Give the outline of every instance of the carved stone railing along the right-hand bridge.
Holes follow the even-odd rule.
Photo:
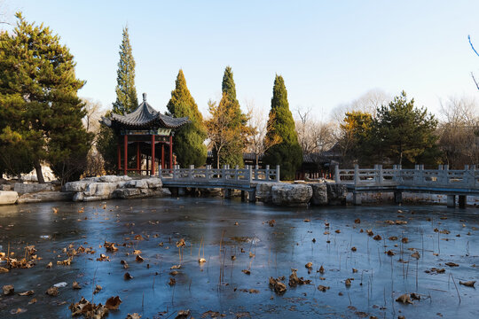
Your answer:
[[[440,165],[438,169],[424,169],[422,165],[416,165],[413,169],[404,169],[399,165],[386,169],[381,165],[375,165],[373,168],[359,168],[356,165],[349,169],[336,166],[334,180],[336,183],[357,186],[400,185],[479,189],[479,170],[476,170],[475,166],[452,170],[447,165]]]

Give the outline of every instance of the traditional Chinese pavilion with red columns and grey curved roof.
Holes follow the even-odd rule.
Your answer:
[[[146,93],[143,93],[143,102],[135,111],[126,115],[111,113],[103,117],[101,122],[113,128],[116,136],[119,136],[118,172],[127,175],[129,171],[137,171],[139,175],[142,172],[154,175],[156,165],[173,167],[174,131],[190,121],[187,117],[173,118],[157,112],[146,102]],[[165,146],[169,152],[166,159]],[[142,158],[146,159],[145,169],[142,167]],[[129,167],[135,162],[134,159],[136,167]]]

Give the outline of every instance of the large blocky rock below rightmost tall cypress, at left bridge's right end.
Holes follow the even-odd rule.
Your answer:
[[[272,202],[281,206],[308,206],[312,187],[306,184],[278,183],[271,188]]]

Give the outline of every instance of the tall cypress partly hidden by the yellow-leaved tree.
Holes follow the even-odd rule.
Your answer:
[[[241,113],[240,102],[236,99],[236,85],[233,80],[232,67],[226,66],[224,69],[223,82],[221,85],[223,97],[220,105],[228,105],[229,111],[233,114],[230,123],[231,128],[240,132],[240,136],[225,146],[223,155],[220,158],[220,163],[228,164],[232,167],[239,165],[242,167],[243,163],[243,148],[245,143],[245,134],[247,133],[247,116]],[[224,101],[227,99],[227,101]],[[215,157],[217,157],[217,150],[213,150]]]

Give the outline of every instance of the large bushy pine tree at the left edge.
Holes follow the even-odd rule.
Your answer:
[[[43,24],[27,23],[20,12],[16,17],[12,35],[0,34],[0,147],[17,149],[22,163],[15,169],[35,167],[39,183],[44,183],[43,162],[65,181],[78,175],[75,167],[82,169],[70,163],[86,159],[90,148],[91,136],[82,126],[84,105],[77,97],[84,82],[75,78],[74,57],[58,35]]]

